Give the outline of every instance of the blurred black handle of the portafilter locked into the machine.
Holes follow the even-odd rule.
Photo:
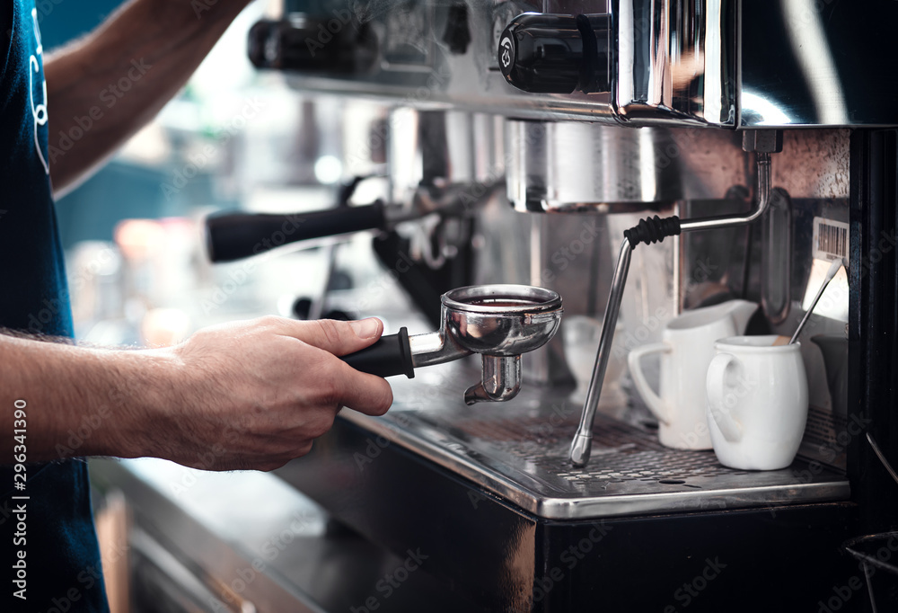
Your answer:
[[[206,219],[211,262],[232,262],[265,253],[282,244],[383,228],[383,202],[293,215],[225,213]]]

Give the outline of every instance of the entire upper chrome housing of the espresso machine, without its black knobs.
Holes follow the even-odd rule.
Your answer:
[[[330,3],[346,10],[346,4]],[[332,6],[331,6],[332,4]],[[339,5],[338,5],[339,4]],[[356,75],[287,75],[304,92],[372,96],[421,109],[631,126],[727,128],[898,125],[898,4],[858,10],[832,0],[470,0],[471,44],[443,40],[445,4],[349,4],[370,22],[381,59]],[[515,15],[612,13],[612,93],[533,94],[507,84],[497,36]]]

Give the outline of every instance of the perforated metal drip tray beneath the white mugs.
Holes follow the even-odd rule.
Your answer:
[[[845,475],[819,463],[797,458],[783,470],[734,470],[713,451],[667,449],[655,429],[601,414],[592,459],[577,468],[568,447],[579,403],[525,386],[507,403],[466,406],[465,386],[453,381],[468,378],[428,372],[392,380],[395,400],[383,417],[340,414],[546,519],[777,507],[850,495]]]

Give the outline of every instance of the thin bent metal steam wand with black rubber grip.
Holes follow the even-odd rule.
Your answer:
[[[745,140],[748,140],[748,138],[745,138]],[[778,140],[779,142],[774,147],[769,147],[770,151],[782,149],[781,136],[779,136]],[[770,152],[757,150],[755,153],[755,164],[757,166],[758,208],[750,214],[735,217],[715,216],[689,219],[687,221],[681,221],[675,215],[664,219],[656,215],[654,218],[642,219],[639,221],[638,226],[624,231],[621,253],[618,255],[617,266],[614,269],[614,277],[612,278],[612,290],[608,296],[608,306],[605,307],[602,336],[599,339],[599,351],[595,358],[593,377],[590,379],[589,388],[586,391],[586,401],[583,405],[583,413],[580,414],[577,434],[574,435],[574,440],[570,445],[569,458],[574,466],[586,466],[592,452],[595,409],[599,405],[605,369],[608,368],[608,359],[611,356],[614,327],[617,325],[618,313],[621,310],[623,289],[627,284],[631,252],[639,243],[660,243],[665,239],[665,236],[675,236],[681,232],[691,232],[692,230],[744,226],[760,218],[770,204]]]

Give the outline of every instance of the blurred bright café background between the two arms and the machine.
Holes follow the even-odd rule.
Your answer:
[[[45,47],[83,36],[119,4],[40,6]],[[353,292],[393,283],[371,256],[368,233],[249,262],[208,262],[200,232],[208,212],[328,208],[353,170],[340,162],[351,159],[340,156],[347,103],[304,98],[279,75],[251,66],[247,32],[264,9],[253,3],[243,11],[172,102],[57,200],[79,340],[164,345],[207,324],[260,314],[364,315],[378,311],[372,296],[382,294],[392,297],[389,310],[404,306],[395,304],[405,300],[401,291],[369,291],[361,304]],[[357,117],[381,112],[351,104]],[[379,189],[366,182],[358,196],[371,201]],[[351,271],[341,262],[352,262]]]

